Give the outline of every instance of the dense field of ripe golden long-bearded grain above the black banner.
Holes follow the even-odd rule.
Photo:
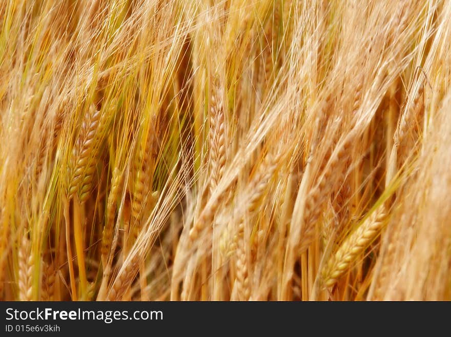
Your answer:
[[[0,299],[451,300],[450,0],[3,0]]]

